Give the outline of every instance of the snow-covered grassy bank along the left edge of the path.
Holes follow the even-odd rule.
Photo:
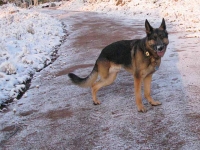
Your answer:
[[[25,82],[51,62],[64,35],[60,21],[12,4],[0,7],[0,104],[16,98]]]

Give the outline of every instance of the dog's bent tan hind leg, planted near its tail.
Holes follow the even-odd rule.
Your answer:
[[[97,99],[98,90],[100,90],[104,86],[108,86],[112,84],[113,81],[116,79],[116,76],[117,76],[117,72],[109,73],[106,79],[101,78],[100,81],[96,82],[92,86],[92,98],[95,105],[100,104],[100,101]]]

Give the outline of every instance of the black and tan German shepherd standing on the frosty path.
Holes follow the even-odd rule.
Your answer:
[[[153,28],[148,20],[145,21],[146,37],[134,40],[122,40],[106,46],[100,53],[92,72],[86,78],[80,78],[73,73],[68,76],[80,87],[91,87],[94,104],[100,104],[97,92],[115,80],[121,68],[132,73],[134,91],[138,111],[146,112],[142,104],[141,84],[144,82],[144,95],[148,102],[160,105],[151,97],[152,74],[158,70],[161,57],[169,44],[168,33],[164,18],[159,28]],[[100,80],[97,80],[98,75]]]

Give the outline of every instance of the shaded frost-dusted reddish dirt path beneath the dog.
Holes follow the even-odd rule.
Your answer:
[[[99,91],[102,104],[94,106],[90,89],[71,84],[67,73],[76,70],[88,75],[104,46],[143,37],[143,22],[124,24],[123,18],[88,12],[51,13],[67,25],[68,39],[59,50],[59,58],[35,74],[27,96],[0,114],[1,149],[199,149],[200,115],[191,105],[194,99],[188,100],[177,68],[175,41],[170,40],[153,76],[152,96],[162,102],[161,106],[152,107],[144,99],[148,112],[138,113],[133,79],[125,71],[114,84]],[[195,105],[195,109],[199,107]]]

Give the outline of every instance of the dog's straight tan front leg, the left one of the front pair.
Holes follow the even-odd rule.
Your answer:
[[[135,90],[135,100],[138,111],[146,112],[144,105],[142,104],[142,96],[141,96],[141,84],[142,78],[134,76],[134,90]]]

